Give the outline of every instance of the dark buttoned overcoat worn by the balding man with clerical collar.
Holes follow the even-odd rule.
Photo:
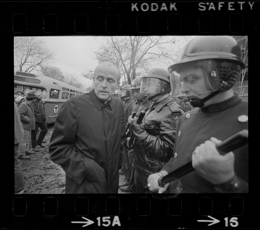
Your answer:
[[[122,101],[103,104],[94,89],[67,100],[56,119],[50,158],[66,173],[65,193],[118,193],[125,141]]]

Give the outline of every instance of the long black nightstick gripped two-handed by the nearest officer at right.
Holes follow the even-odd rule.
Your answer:
[[[216,148],[221,155],[225,155],[231,151],[234,151],[248,143],[248,130],[242,130],[231,137],[225,139],[221,143],[216,145]],[[158,179],[158,183],[160,187],[164,187],[167,183],[180,178],[188,173],[191,173],[193,170],[195,170],[192,167],[192,162],[189,161],[187,164],[177,168],[176,170],[173,170],[169,174],[167,174],[164,177],[160,177]],[[147,186],[144,187],[144,191],[149,191],[149,188]]]

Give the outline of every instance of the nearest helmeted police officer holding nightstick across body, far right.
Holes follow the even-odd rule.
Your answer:
[[[244,68],[240,52],[232,37],[198,36],[169,67],[171,83],[179,76],[182,93],[196,107],[181,116],[173,157],[160,171],[167,175],[192,160],[195,170],[179,178],[179,192],[248,192],[248,144],[225,155],[215,147],[234,133],[248,130],[248,103],[232,89]],[[159,178],[149,176],[150,191],[166,192],[169,183],[160,187]]]

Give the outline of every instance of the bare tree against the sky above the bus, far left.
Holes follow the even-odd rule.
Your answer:
[[[50,51],[39,37],[14,37],[14,69],[22,72],[41,70],[50,65],[56,51]]]

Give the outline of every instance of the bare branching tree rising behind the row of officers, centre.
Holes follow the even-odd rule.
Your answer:
[[[187,42],[188,37],[182,39]],[[99,63],[109,61],[115,64],[125,82],[130,84],[152,68],[173,64],[182,48],[179,41],[180,36],[108,37],[94,53]]]

